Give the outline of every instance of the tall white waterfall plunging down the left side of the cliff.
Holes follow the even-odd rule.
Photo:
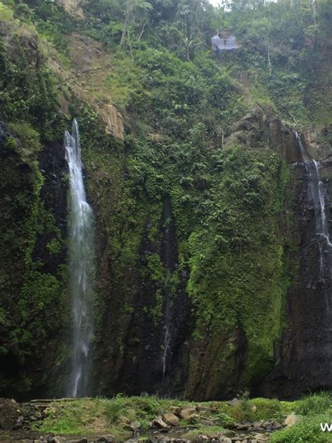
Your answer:
[[[69,273],[73,322],[71,376],[67,395],[83,397],[88,390],[92,340],[93,214],[86,201],[77,121],[64,134],[70,176]]]

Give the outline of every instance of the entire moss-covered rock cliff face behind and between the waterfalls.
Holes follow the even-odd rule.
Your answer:
[[[78,2],[62,3],[81,17]],[[25,48],[21,68],[39,72],[44,93],[39,41],[29,30],[17,40],[8,24],[0,32],[10,60],[25,60]],[[69,86],[32,108],[56,102],[42,142],[29,125],[0,124],[1,392],[62,394],[71,329],[61,139],[71,113],[81,123],[97,225],[95,393],[211,400],[247,389],[284,397],[331,388],[331,266],[320,261],[331,252],[315,238],[293,132],[255,105],[223,151],[204,144],[199,125],[190,142],[164,145],[158,132],[134,142],[107,89],[111,55],[88,36],[68,39],[71,67],[46,45],[55,79]],[[303,140],[322,158],[328,207],[331,158],[314,132]]]

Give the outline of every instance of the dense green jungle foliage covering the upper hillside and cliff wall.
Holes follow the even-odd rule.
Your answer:
[[[49,158],[61,157],[63,132],[74,117],[97,219],[95,362],[116,367],[112,387],[103,369],[95,391],[116,391],[126,356],[132,364],[142,360],[141,323],[149,336],[161,334],[166,293],[174,317],[179,297],[189,304],[188,330],[177,338],[191,349],[181,395],[220,396],[228,382],[251,389],[273,367],[286,327],[287,252],[296,247],[280,227],[292,201],[289,166],[269,149],[269,137],[244,149],[245,141],[232,135],[243,132],[244,116],[259,132],[253,109],[260,109],[289,128],[319,128],[328,149],[332,5],[229,3],[91,0],[82,2],[78,17],[52,1],[1,0],[4,395],[62,392],[70,353],[68,177],[63,158]],[[241,48],[212,57],[215,29],[234,34]],[[101,43],[106,61],[99,71],[77,62],[73,35]],[[110,101],[123,114],[123,140],[104,133],[99,112]],[[42,163],[58,169],[45,171]],[[165,240],[170,224],[174,238]],[[176,245],[171,265],[162,254],[165,241]],[[162,343],[155,346],[162,352]],[[206,347],[211,361],[195,360]],[[196,394],[201,373],[202,383],[211,383]]]

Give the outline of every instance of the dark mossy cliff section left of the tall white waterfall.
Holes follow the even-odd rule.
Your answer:
[[[1,203],[2,393],[42,395],[55,392],[62,367],[55,363],[60,362],[58,346],[68,332],[62,304],[67,262],[64,148],[46,143],[38,153],[3,123],[0,128],[1,194],[6,196]]]

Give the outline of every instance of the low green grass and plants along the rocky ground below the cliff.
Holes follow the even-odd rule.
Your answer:
[[[310,406],[310,409],[307,409]],[[189,420],[180,420],[186,428],[186,439],[199,435],[216,437],[235,423],[248,421],[278,421],[284,423],[289,414],[296,412],[296,423],[272,433],[272,443],[331,442],[328,432],[321,432],[320,423],[331,423],[331,397],[326,393],[304,397],[296,402],[252,399],[244,397],[238,404],[231,406],[226,402],[193,403],[180,400],[163,400],[158,397],[125,397],[118,395],[111,400],[82,399],[70,402],[57,401],[50,404],[46,419],[34,428],[41,432],[56,434],[87,435],[89,432],[109,432],[117,438],[128,435],[127,423],[138,421],[141,433],[151,428],[151,421],[172,410],[172,407],[199,408]],[[206,425],[204,420],[213,421]]]

